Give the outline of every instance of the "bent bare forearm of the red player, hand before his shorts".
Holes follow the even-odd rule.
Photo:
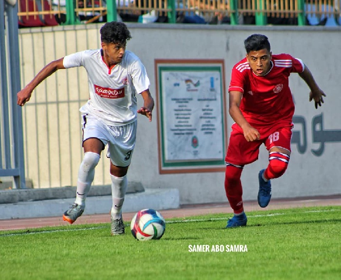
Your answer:
[[[259,140],[261,135],[258,130],[252,127],[249,123],[247,123],[244,118],[242,111],[239,109],[240,102],[242,100],[243,93],[239,91],[229,91],[229,108],[228,112],[232,117],[233,121],[235,121],[242,129],[244,133],[244,137],[246,141],[254,141]]]

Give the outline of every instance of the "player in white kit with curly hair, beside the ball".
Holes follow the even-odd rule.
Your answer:
[[[124,234],[122,206],[128,187],[127,171],[136,140],[137,113],[152,121],[154,100],[150,81],[140,59],[126,51],[131,38],[123,22],[107,22],[100,29],[101,49],[66,55],[46,65],[17,94],[17,104],[30,100],[32,91],[59,69],[84,67],[88,73],[90,99],[79,110],[83,119],[84,157],[77,180],[76,200],[63,214],[63,220],[74,223],[84,212],[87,193],[95,176],[95,166],[108,144],[113,207],[111,234]],[[136,93],[144,105],[137,109]]]

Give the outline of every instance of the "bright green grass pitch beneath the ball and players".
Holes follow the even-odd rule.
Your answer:
[[[162,211],[161,211],[162,214]],[[246,227],[225,229],[229,214],[169,219],[161,240],[110,236],[110,224],[0,231],[1,279],[338,279],[341,207],[247,212]],[[209,252],[189,252],[208,245]],[[211,252],[246,245],[247,252]]]

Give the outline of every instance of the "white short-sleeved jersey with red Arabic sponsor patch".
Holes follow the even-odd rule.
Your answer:
[[[108,68],[102,49],[66,55],[65,68],[83,66],[88,72],[90,99],[79,111],[90,114],[107,125],[125,125],[137,118],[136,93],[149,88],[146,69],[132,52],[124,53],[122,62]]]

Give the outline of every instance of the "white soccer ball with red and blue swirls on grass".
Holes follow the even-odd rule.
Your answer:
[[[132,219],[130,229],[133,237],[145,241],[160,239],[165,232],[166,221],[162,215],[153,209],[139,210]]]

